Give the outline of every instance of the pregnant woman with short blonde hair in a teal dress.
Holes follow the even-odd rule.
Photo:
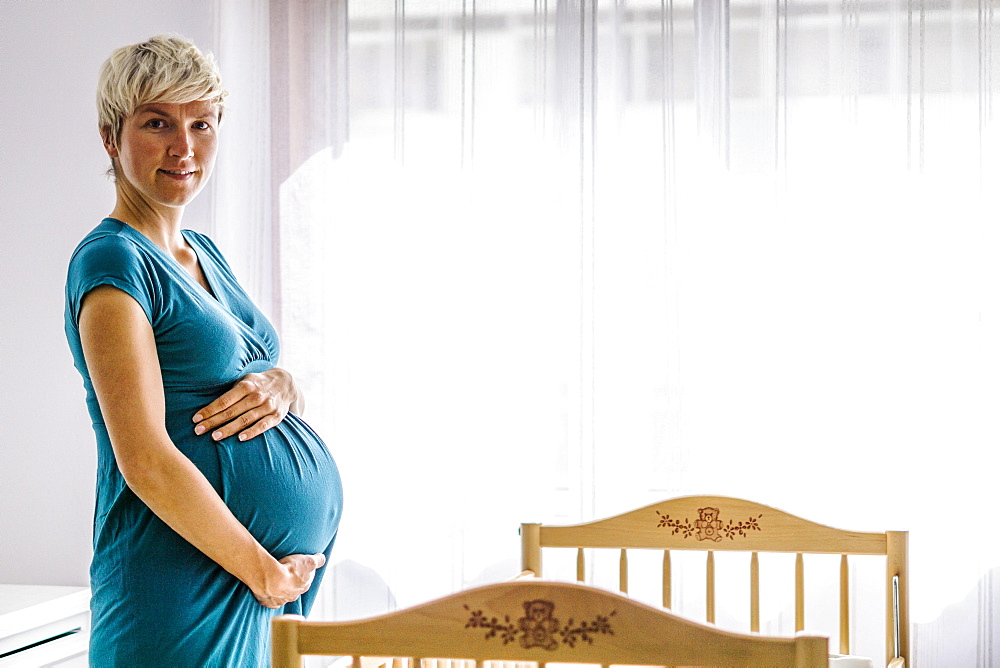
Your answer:
[[[308,613],[340,522],[336,464],[275,366],[273,327],[181,228],[225,96],[176,36],[118,49],[100,74],[116,203],[66,284],[98,448],[95,667],[266,665],[271,617]]]

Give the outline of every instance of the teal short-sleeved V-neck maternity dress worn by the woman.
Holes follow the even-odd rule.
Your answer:
[[[326,445],[289,413],[241,442],[194,433],[192,416],[244,375],[275,366],[274,328],[205,236],[184,230],[211,293],[129,225],[106,218],[80,243],[66,282],[66,336],[83,376],[97,436],[97,501],[90,568],[90,665],[265,666],[271,618],[307,614],[312,588],[282,610],[164,524],[126,486],[80,346],[80,304],[112,285],[142,306],[163,376],[166,427],[250,533],[275,558],[322,552],[329,559],[340,522],[340,474]]]

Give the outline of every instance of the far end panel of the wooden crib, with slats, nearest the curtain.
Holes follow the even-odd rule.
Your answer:
[[[687,496],[660,501],[606,519],[575,525],[521,525],[521,559],[525,573],[542,576],[542,548],[576,548],[576,579],[584,581],[585,549],[620,552],[619,590],[628,592],[628,551],[663,553],[663,607],[673,607],[671,553],[706,553],[706,621],[715,623],[715,553],[749,553],[750,630],[760,631],[760,553],[795,555],[795,630],[806,628],[805,560],[808,554],[840,555],[839,650],[851,653],[849,558],[885,557],[886,665],[902,667],[910,656],[907,587],[907,533],[835,529],[753,501],[723,496]]]

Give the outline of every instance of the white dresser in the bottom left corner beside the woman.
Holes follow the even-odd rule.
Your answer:
[[[0,667],[87,665],[90,590],[0,584]]]

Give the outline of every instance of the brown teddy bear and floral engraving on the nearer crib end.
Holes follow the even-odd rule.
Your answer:
[[[578,642],[593,644],[594,637],[601,634],[614,635],[611,627],[611,617],[615,611],[608,615],[597,615],[593,621],[576,622],[572,617],[565,624],[560,625],[555,616],[556,604],[552,601],[525,601],[524,616],[511,621],[510,615],[504,615],[503,620],[498,617],[487,617],[482,610],[469,610],[469,620],[465,623],[467,629],[485,629],[485,639],[499,637],[504,645],[512,642],[519,642],[522,647],[541,647],[552,651],[563,643],[568,647],[576,647]]]

